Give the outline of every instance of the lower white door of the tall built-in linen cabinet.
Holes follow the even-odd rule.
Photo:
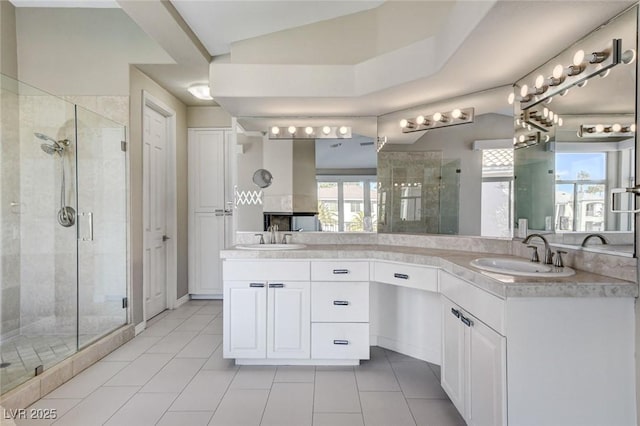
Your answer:
[[[191,294],[222,294],[222,262],[224,217],[217,213],[194,213],[193,276],[189,280]]]

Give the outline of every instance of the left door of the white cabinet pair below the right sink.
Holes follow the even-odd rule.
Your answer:
[[[460,414],[465,414],[465,329],[462,311],[446,297],[442,298],[441,385]]]

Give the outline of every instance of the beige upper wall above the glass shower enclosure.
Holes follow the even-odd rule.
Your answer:
[[[16,23],[19,79],[54,95],[128,96],[129,64],[173,62],[121,9],[22,7]]]

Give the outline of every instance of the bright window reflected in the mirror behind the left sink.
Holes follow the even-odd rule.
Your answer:
[[[377,181],[366,176],[318,176],[318,219],[325,232],[376,231]]]

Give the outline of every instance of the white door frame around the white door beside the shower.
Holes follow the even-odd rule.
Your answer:
[[[167,240],[167,259],[166,259],[166,303],[167,309],[174,309],[176,306],[176,299],[178,293],[178,213],[177,213],[177,182],[176,182],[176,112],[166,105],[164,102],[151,95],[149,92],[142,91],[142,123],[144,126],[144,109],[151,108],[163,117],[167,119],[167,235],[170,239]],[[144,129],[142,131],[142,137],[144,137]],[[143,160],[144,167],[144,160]],[[143,170],[144,173],[144,170]],[[145,188],[142,188],[142,196],[145,196]],[[145,217],[142,215],[142,229],[145,229]],[[143,268],[144,256],[143,256]],[[146,288],[142,286],[142,318],[143,322],[147,321],[147,294]]]

